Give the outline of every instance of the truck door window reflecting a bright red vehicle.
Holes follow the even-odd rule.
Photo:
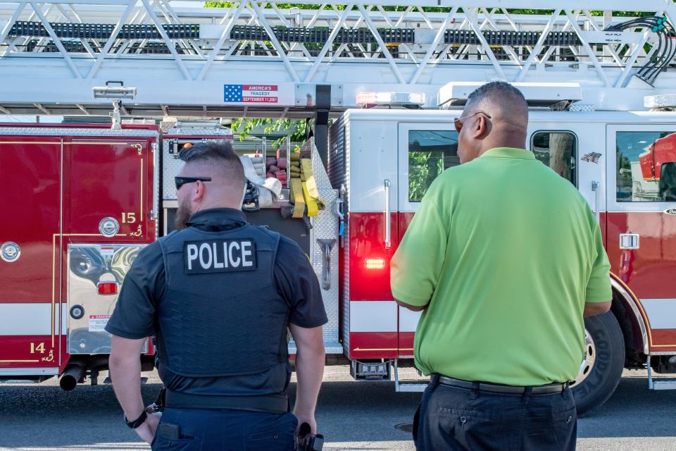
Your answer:
[[[676,202],[676,133],[617,132],[618,202]]]

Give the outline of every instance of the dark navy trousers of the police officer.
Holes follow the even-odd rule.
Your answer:
[[[165,409],[152,450],[295,451],[294,414]]]

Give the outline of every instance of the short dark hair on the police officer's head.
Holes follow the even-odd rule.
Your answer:
[[[178,157],[185,163],[208,163],[222,168],[230,181],[246,183],[244,166],[239,160],[237,152],[232,149],[230,141],[198,142],[190,147],[184,147]]]

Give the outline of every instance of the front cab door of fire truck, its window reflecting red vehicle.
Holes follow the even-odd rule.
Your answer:
[[[676,351],[676,125],[609,124],[606,142],[611,271],[641,302],[649,350]]]

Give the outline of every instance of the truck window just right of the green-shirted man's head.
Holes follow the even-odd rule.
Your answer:
[[[535,158],[577,185],[577,137],[571,132],[534,132],[530,150]]]

